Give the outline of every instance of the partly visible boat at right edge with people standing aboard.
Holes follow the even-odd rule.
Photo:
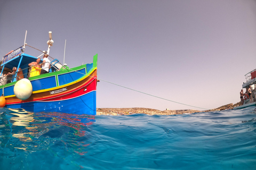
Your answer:
[[[234,107],[234,109],[245,108],[245,107],[255,106],[256,105],[256,99],[255,99],[255,93],[256,93],[256,69],[254,69],[253,71],[245,74],[245,79],[246,79],[246,82],[244,82],[242,84],[242,88],[245,88],[246,90],[248,88],[251,88],[251,91],[252,91],[251,96],[253,98],[250,100],[249,95],[245,93],[243,105]]]

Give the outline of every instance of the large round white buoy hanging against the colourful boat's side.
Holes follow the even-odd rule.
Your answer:
[[[21,79],[15,84],[13,91],[18,99],[26,100],[32,94],[32,84],[28,79]]]

